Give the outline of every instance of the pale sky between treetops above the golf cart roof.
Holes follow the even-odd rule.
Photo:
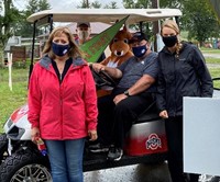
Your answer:
[[[48,0],[48,3],[53,9],[69,9],[70,7],[77,8],[78,4],[80,4],[82,0]],[[89,3],[94,2],[95,0],[89,0]],[[123,8],[122,0],[97,0],[101,4],[109,4],[110,2],[114,1],[117,2],[118,8]],[[23,10],[25,8],[25,2],[28,0],[13,0],[14,5],[19,10]]]

